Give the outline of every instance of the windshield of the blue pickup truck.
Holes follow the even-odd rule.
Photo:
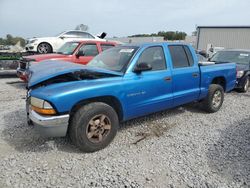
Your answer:
[[[123,72],[138,47],[120,46],[105,50],[90,61],[87,66]]]

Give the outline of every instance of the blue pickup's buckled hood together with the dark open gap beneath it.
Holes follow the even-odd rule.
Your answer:
[[[29,68],[28,88],[114,76],[122,76],[122,73],[65,61],[44,61]]]

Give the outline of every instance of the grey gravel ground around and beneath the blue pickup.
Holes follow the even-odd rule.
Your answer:
[[[84,154],[26,124],[23,83],[0,85],[0,187],[250,187],[250,92],[214,114],[190,104],[126,122]]]

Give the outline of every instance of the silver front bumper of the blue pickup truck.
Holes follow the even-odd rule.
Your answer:
[[[45,137],[66,136],[69,124],[69,115],[43,116],[29,109],[28,120],[31,121],[35,130]]]

